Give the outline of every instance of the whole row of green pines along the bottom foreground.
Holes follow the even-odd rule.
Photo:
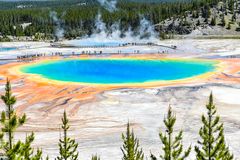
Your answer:
[[[16,98],[12,95],[10,81],[7,80],[5,94],[1,96],[5,104],[5,110],[1,113],[0,149],[4,151],[4,157],[9,160],[42,160],[41,149],[31,147],[34,141],[34,133],[27,135],[25,141],[15,142],[14,133],[16,129],[26,122],[26,115],[18,116],[14,110]],[[213,103],[212,94],[206,105],[207,114],[202,115],[202,126],[199,129],[199,140],[196,146],[183,146],[183,134],[181,130],[175,133],[174,125],[176,116],[169,107],[168,113],[163,122],[165,129],[160,131],[159,138],[162,144],[160,155],[146,156],[140,147],[140,142],[127,124],[126,133],[122,134],[123,145],[121,147],[122,160],[144,160],[149,157],[151,160],[185,160],[191,152],[195,152],[196,160],[233,160],[234,156],[226,144],[224,126],[217,115],[217,109]],[[63,136],[59,139],[58,160],[77,160],[79,156],[78,143],[68,136],[70,128],[67,114],[64,111],[62,118]],[[149,137],[150,138],[150,137]],[[3,157],[0,159],[3,159]],[[46,157],[46,159],[49,159]],[[100,160],[98,155],[92,156],[92,160]]]

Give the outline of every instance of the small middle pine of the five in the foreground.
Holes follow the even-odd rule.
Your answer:
[[[127,124],[126,134],[122,134],[123,146],[121,147],[122,160],[143,160],[144,154],[139,146],[139,140],[135,137],[133,130],[130,131],[130,124]]]

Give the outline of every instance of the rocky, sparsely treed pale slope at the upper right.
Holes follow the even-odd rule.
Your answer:
[[[240,35],[240,1],[219,2],[188,11],[182,17],[171,17],[159,23],[160,32],[168,35],[236,36]]]

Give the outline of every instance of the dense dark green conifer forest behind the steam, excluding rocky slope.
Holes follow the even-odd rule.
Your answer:
[[[51,39],[54,37],[58,27],[64,29],[65,38],[91,35],[95,31],[95,19],[99,13],[102,15],[108,30],[110,30],[112,24],[119,23],[122,32],[127,31],[129,28],[135,31],[139,29],[142,17],[145,17],[154,25],[170,17],[184,16],[186,11],[216,5],[219,1],[192,0],[142,3],[119,0],[116,6],[117,10],[114,12],[108,11],[99,3],[77,3],[78,5],[72,5],[65,1],[63,1],[65,5],[56,5],[55,7],[50,5],[50,7],[5,9],[0,10],[0,35],[2,37],[9,35],[19,37],[38,34],[41,35],[41,39]],[[52,11],[57,12],[58,22],[54,21],[53,17],[50,16]],[[24,25],[24,23],[29,24]]]

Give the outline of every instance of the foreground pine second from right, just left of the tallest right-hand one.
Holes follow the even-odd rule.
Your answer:
[[[191,146],[187,150],[183,151],[183,132],[180,131],[177,136],[173,137],[174,124],[176,122],[176,116],[173,114],[171,107],[169,107],[167,117],[164,119],[166,126],[165,133],[160,132],[159,137],[163,144],[163,155],[160,155],[160,159],[163,160],[184,160],[191,151]],[[157,160],[156,156],[151,154],[151,160]]]

